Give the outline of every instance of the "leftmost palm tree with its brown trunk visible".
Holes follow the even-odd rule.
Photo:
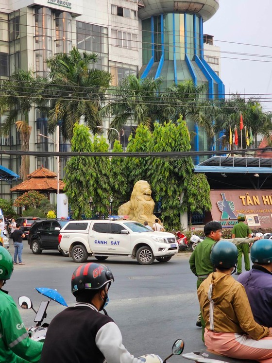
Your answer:
[[[34,78],[31,70],[17,69],[10,80],[1,84],[0,114],[5,115],[1,133],[8,135],[12,124],[16,124],[20,134],[21,150],[29,151],[29,139],[32,126],[29,125],[29,112],[36,106],[44,111],[45,100],[41,88],[44,83],[41,77]],[[29,156],[21,157],[20,175],[23,180],[29,174]]]

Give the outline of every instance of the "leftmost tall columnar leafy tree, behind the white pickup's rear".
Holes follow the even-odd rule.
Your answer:
[[[93,152],[88,127],[75,124],[71,140],[74,152]],[[64,191],[68,196],[74,219],[91,218],[90,198],[95,189],[96,165],[94,158],[89,156],[72,156],[65,167]]]

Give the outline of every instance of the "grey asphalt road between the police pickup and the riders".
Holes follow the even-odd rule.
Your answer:
[[[42,295],[35,287],[57,289],[67,304],[75,300],[70,293],[70,278],[79,264],[71,258],[61,256],[58,251],[43,251],[33,255],[24,241],[23,262],[15,265],[12,279],[4,289],[14,297],[27,295],[37,309]],[[10,240],[10,252],[14,246]],[[204,348],[201,328],[195,326],[199,311],[196,294],[196,277],[188,265],[190,253],[180,253],[167,263],[154,262],[149,266],[139,265],[129,258],[108,258],[115,282],[109,290],[108,314],[118,324],[124,345],[135,356],[155,353],[163,359],[171,352],[176,339],[185,341],[185,352]],[[89,258],[88,261],[97,261]],[[34,324],[34,311],[22,310],[25,326]],[[45,321],[50,322],[64,307],[51,302]],[[189,362],[175,356],[170,362]]]

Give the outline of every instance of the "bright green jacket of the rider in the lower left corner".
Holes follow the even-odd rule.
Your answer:
[[[42,347],[30,339],[13,298],[0,289],[0,363],[38,362]]]

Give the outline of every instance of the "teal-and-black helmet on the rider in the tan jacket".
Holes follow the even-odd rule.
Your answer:
[[[214,244],[211,252],[211,263],[220,269],[229,269],[237,263],[238,250],[235,244],[220,241]]]

